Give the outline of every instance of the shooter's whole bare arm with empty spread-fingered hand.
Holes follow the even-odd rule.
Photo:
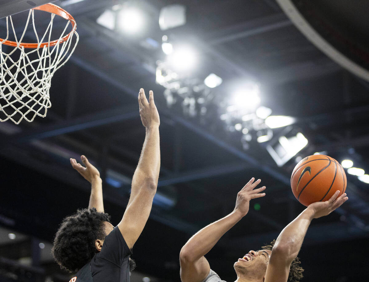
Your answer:
[[[225,232],[248,213],[251,199],[265,196],[265,193],[260,193],[265,186],[253,190],[260,183],[260,179],[255,182],[254,180],[252,178],[238,192],[236,206],[230,214],[201,229],[182,247],[179,255],[182,282],[201,282],[206,278],[210,265],[204,255],[214,247]]]

